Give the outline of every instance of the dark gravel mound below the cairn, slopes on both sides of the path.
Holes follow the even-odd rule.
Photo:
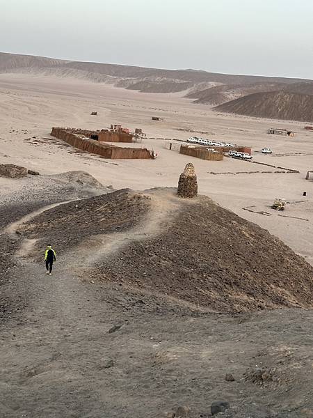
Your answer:
[[[172,209],[157,232],[138,234],[141,222],[165,206]],[[268,231],[204,196],[121,190],[46,211],[21,231],[40,238],[40,245],[55,243],[59,254],[99,233],[110,233],[114,248],[115,236],[129,231],[129,244],[103,256],[90,275],[193,307],[239,312],[313,306],[312,266]]]

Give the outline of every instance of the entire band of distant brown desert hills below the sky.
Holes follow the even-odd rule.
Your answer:
[[[163,70],[5,52],[0,52],[1,73],[86,79],[142,93],[185,92],[186,98],[217,106],[218,111],[312,121],[313,80],[309,79],[227,75],[191,68]]]

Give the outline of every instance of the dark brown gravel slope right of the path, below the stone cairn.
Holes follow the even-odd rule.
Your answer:
[[[220,312],[312,307],[313,268],[268,231],[201,196],[97,277]]]

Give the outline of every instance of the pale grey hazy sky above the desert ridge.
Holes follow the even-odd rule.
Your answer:
[[[0,51],[313,78],[313,0],[0,0]]]

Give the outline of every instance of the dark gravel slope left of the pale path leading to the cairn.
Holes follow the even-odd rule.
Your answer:
[[[63,254],[84,238],[133,228],[149,207],[149,196],[122,189],[45,210],[21,226],[19,233],[38,239],[38,250],[51,242]]]

